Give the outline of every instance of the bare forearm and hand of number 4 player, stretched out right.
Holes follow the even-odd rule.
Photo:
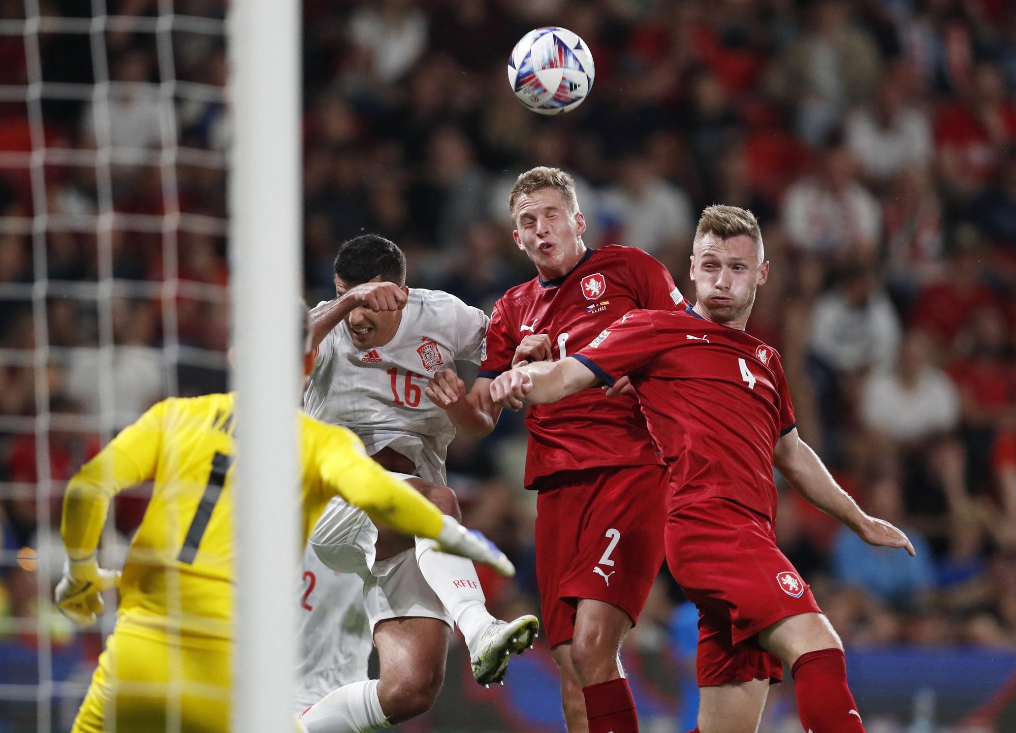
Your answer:
[[[861,539],[873,545],[903,547],[911,556],[915,554],[913,545],[902,531],[885,520],[865,514],[853,497],[840,488],[822,459],[798,436],[797,427],[776,443],[773,465],[795,491],[838,519]]]

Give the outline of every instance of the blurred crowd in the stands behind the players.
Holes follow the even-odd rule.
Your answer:
[[[161,5],[108,4],[141,15]],[[0,17],[19,16],[11,5]],[[85,5],[41,1],[51,15]],[[176,11],[221,16],[223,4],[183,0]],[[577,32],[596,63],[588,99],[552,118],[524,109],[505,73],[515,42],[545,24]],[[81,62],[87,36],[39,41],[47,81],[99,78]],[[158,86],[167,73],[221,85],[220,39],[175,34],[172,69],[150,34],[110,31],[107,47],[110,78],[125,82],[113,85],[114,109],[44,98],[37,131],[30,105],[0,102],[0,149],[29,150],[43,134],[48,147],[227,152],[221,98],[178,101],[168,121]],[[0,37],[0,84],[26,83],[25,48]],[[333,296],[338,243],[371,231],[406,252],[410,286],[490,312],[535,274],[507,208],[515,176],[535,164],[575,177],[588,247],[640,247],[686,293],[698,212],[748,207],[772,263],[749,332],[780,352],[802,437],[863,508],[909,534],[917,557],[865,545],[789,490],[782,548],[848,645],[1016,647],[1016,6],[306,0],[303,64],[308,301]],[[225,169],[97,159],[47,164],[42,189],[27,168],[0,164],[0,536],[11,551],[33,546],[40,503],[56,521],[59,482],[110,427],[89,416],[103,408],[123,424],[168,391],[227,385],[225,362],[186,358],[227,346],[223,230],[139,231],[117,218],[223,219]],[[4,225],[110,204],[112,226],[91,231]],[[158,287],[103,301],[110,276]],[[41,278],[63,285],[42,319],[30,288],[9,294]],[[112,394],[102,374],[114,375]],[[54,483],[26,495],[18,487],[39,480],[44,460],[15,418],[44,412],[66,418],[46,441]],[[522,570],[513,589],[494,584],[495,599],[535,593],[523,439],[520,416],[506,414],[488,440],[457,439],[449,454],[466,522]],[[125,533],[137,515],[127,509]],[[29,612],[23,573],[3,569],[0,617]],[[638,632],[665,626],[680,592],[661,581],[657,600]]]

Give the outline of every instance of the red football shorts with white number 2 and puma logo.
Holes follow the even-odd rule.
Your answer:
[[[578,599],[605,601],[632,619],[663,562],[663,466],[562,471],[539,482],[536,581],[551,648],[572,639]]]

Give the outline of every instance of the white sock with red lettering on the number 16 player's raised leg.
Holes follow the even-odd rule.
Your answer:
[[[417,537],[417,562],[427,585],[455,619],[471,651],[477,635],[495,620],[487,611],[487,598],[472,560],[438,552],[433,540]]]

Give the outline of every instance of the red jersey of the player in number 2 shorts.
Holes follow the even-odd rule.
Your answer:
[[[548,334],[552,358],[559,359],[629,311],[684,307],[671,273],[642,250],[617,245],[589,250],[563,277],[535,277],[497,302],[480,376],[494,379],[510,370],[515,348],[530,333]],[[661,462],[632,395],[611,398],[598,387],[588,389],[553,405],[533,405],[525,421],[527,487],[558,471]]]

